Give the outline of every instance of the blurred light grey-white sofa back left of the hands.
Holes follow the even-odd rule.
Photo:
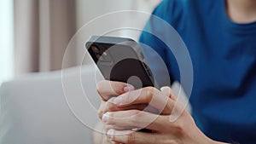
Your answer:
[[[73,67],[62,74],[62,80],[59,71],[32,73],[2,84],[0,144],[92,143],[100,102],[95,67],[84,66],[81,72],[80,67]]]

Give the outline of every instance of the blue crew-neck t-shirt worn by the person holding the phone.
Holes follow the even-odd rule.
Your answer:
[[[189,101],[196,124],[217,141],[256,143],[256,22],[230,21],[224,0],[165,0],[153,14],[171,24],[189,50],[194,70]],[[146,27],[172,37],[152,19]],[[177,61],[165,43],[148,32],[140,43],[158,52],[172,80],[180,80]],[[157,64],[150,65],[154,55],[147,51],[143,48],[149,66],[158,72]]]

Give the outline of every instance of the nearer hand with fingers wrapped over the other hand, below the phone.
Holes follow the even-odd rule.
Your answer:
[[[133,144],[211,144],[212,141],[195,124],[190,113],[169,87],[158,90],[153,87],[137,89],[119,95],[113,103],[116,107],[131,107],[137,104],[148,104],[160,111],[159,114],[141,110],[106,112],[102,119],[105,124],[118,127],[137,127],[153,130],[152,133],[137,130],[108,130],[108,138],[115,143]],[[174,107],[175,106],[175,107]],[[175,121],[170,118],[177,117]]]

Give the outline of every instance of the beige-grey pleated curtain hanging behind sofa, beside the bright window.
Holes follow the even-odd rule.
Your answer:
[[[76,32],[75,0],[15,0],[14,6],[15,74],[61,69]],[[75,63],[71,59],[68,64]]]

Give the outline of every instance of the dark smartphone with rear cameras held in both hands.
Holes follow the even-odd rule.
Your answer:
[[[139,43],[131,38],[92,36],[85,45],[105,79],[135,89],[157,87]]]

